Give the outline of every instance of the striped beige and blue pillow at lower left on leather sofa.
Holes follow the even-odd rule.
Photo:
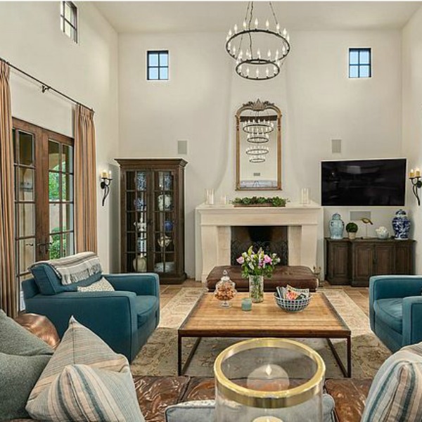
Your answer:
[[[73,317],[26,409],[41,421],[145,421],[126,357]]]

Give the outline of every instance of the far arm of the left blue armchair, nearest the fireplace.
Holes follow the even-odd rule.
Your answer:
[[[136,295],[160,296],[160,279],[154,273],[104,274],[115,290],[134,292]]]

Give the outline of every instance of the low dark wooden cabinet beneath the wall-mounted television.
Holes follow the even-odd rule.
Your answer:
[[[414,274],[414,242],[326,238],[326,279],[331,284],[367,287],[371,276]]]

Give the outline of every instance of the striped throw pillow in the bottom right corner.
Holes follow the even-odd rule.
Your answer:
[[[378,370],[362,422],[422,421],[422,343],[406,346]]]

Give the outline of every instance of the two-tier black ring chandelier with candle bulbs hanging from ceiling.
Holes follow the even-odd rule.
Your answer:
[[[236,60],[239,76],[252,80],[272,79],[279,75],[283,61],[290,53],[290,37],[286,28],[281,31],[271,1],[269,7],[275,28],[270,28],[268,19],[265,27],[259,26],[258,18],[254,20],[253,3],[248,3],[242,29],[236,24],[229,30],[226,51]]]

